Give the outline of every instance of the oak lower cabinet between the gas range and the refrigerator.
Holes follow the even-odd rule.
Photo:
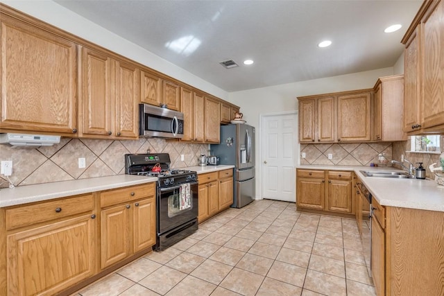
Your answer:
[[[233,203],[232,168],[213,173],[200,174],[198,177],[198,222],[202,223]]]

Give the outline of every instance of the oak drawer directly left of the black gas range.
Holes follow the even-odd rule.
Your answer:
[[[131,202],[155,195],[155,183],[113,189],[100,194],[100,206],[109,207],[113,204]]]

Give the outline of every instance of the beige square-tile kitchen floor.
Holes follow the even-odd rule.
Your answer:
[[[256,200],[75,295],[375,295],[355,220]]]

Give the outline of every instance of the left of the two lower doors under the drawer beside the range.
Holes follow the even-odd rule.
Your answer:
[[[130,204],[101,211],[101,268],[130,255]]]

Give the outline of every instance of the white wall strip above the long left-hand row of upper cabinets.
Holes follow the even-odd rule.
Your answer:
[[[223,100],[228,98],[228,92],[223,89],[210,84],[201,78],[198,78],[194,74],[185,71],[184,69],[160,58],[159,56],[142,49],[142,47],[129,42],[128,40],[120,37],[105,28],[94,24],[92,21],[80,17],[76,13],[60,6],[58,3],[51,0],[39,0],[39,1],[5,1],[0,2],[6,5],[20,10],[28,15],[31,15],[37,19],[41,19],[46,23],[52,24],[62,30],[72,33],[78,37],[82,37],[89,42],[93,42],[105,49],[110,49],[115,53],[119,53],[131,60],[135,60],[141,64],[146,65],[152,69],[167,74],[173,78],[176,78],[182,82],[185,82],[193,87],[197,87],[204,92],[208,92],[214,96],[222,98]],[[105,5],[105,3],[104,3]]]

